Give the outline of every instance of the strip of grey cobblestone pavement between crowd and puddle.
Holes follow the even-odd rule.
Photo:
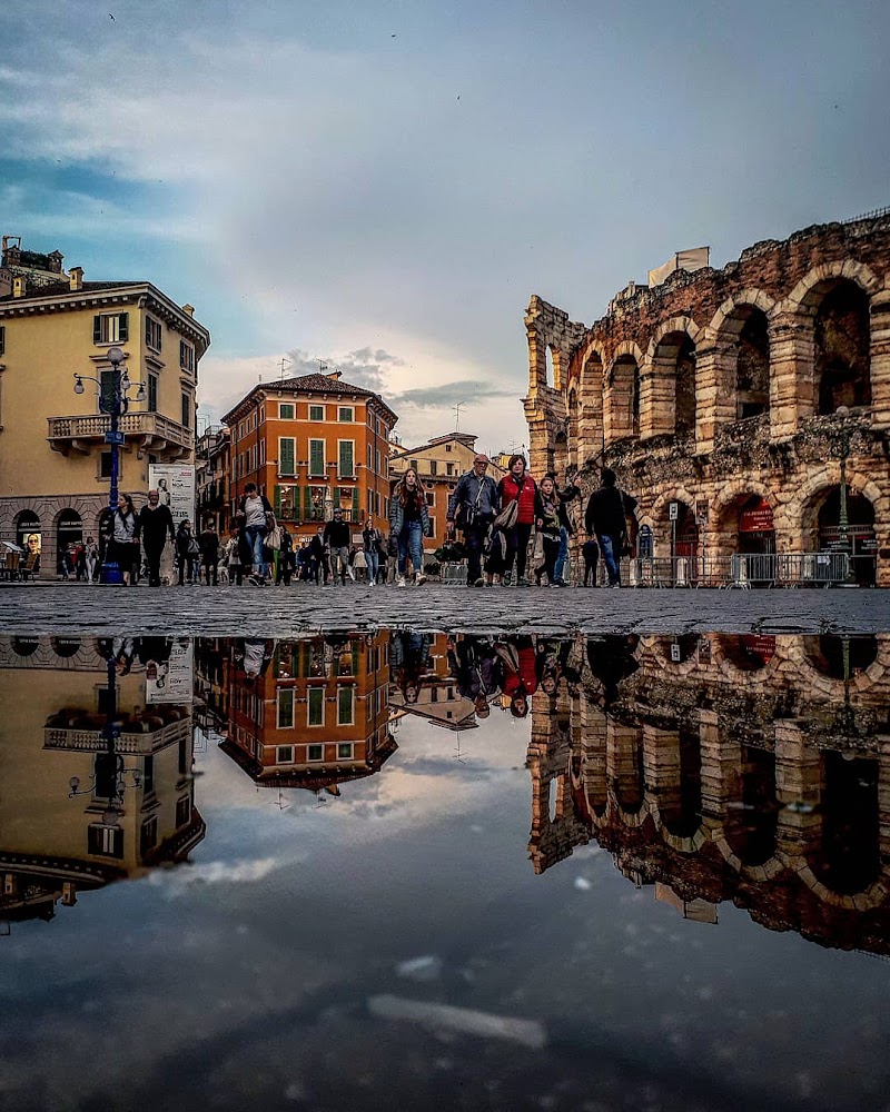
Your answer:
[[[285,637],[375,627],[469,633],[881,633],[890,590],[610,590],[0,585],[0,634]]]

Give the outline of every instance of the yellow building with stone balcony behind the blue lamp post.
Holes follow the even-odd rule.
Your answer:
[[[41,550],[52,577],[70,543],[98,538],[108,505],[108,351],[123,350],[134,389],[120,418],[119,485],[137,505],[150,463],[191,463],[198,363],[210,334],[148,281],[85,281],[62,256],[3,237],[0,265],[0,540]],[[85,393],[73,393],[75,375]],[[96,379],[97,381],[90,381]],[[132,400],[137,384],[145,401]],[[33,538],[37,538],[34,540]],[[30,544],[29,544],[30,542]]]

